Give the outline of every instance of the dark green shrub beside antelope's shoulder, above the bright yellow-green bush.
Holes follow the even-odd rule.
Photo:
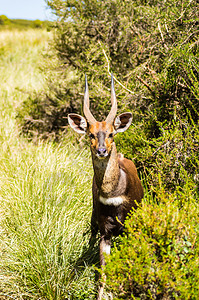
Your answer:
[[[183,188],[188,181],[192,190],[199,191],[198,125],[175,118],[167,128],[162,123],[159,127],[159,137],[149,138],[143,124],[131,126],[124,138],[116,137],[118,150],[135,161],[150,189],[158,186],[160,176],[168,191]]]

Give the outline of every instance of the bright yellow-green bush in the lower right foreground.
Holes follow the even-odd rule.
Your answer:
[[[199,265],[194,193],[182,197],[159,188],[126,221],[126,234],[106,266],[113,299],[198,299]],[[147,199],[148,198],[148,199]]]

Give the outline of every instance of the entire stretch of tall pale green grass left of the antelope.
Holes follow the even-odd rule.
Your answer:
[[[16,109],[45,88],[46,31],[0,32],[0,298],[93,299],[91,161],[69,141],[20,137]]]

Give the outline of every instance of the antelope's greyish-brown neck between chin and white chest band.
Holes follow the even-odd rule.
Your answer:
[[[110,155],[104,159],[99,159],[92,153],[94,177],[100,196],[108,198],[114,196],[117,190],[120,169],[118,164],[117,150],[115,143],[112,145]]]

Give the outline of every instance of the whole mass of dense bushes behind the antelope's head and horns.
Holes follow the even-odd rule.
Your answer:
[[[150,169],[154,184],[159,171],[168,189],[183,186],[182,166],[198,185],[198,2],[48,4],[59,18],[46,74],[50,88],[24,103],[22,131],[32,138],[65,130],[67,112],[81,111],[85,73],[101,119],[110,107],[113,72],[119,111],[133,112],[134,126],[117,138],[123,153],[146,175]]]

